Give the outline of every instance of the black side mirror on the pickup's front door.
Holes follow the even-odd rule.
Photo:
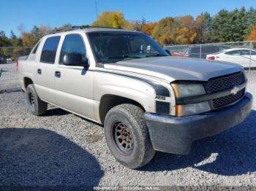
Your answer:
[[[81,54],[68,53],[63,57],[63,64],[66,66],[84,66],[89,67],[88,58],[82,58]]]

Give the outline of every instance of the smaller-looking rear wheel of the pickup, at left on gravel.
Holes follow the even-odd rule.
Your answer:
[[[47,111],[47,103],[38,97],[33,84],[26,87],[26,102],[30,112],[34,115],[42,115]]]

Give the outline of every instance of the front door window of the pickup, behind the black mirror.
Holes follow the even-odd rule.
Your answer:
[[[63,58],[66,54],[80,54],[83,59],[86,58],[86,47],[80,34],[68,34],[65,36],[61,47],[59,64],[63,64]]]

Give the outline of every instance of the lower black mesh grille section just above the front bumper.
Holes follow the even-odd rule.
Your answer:
[[[226,106],[228,104],[232,104],[233,102],[240,99],[244,95],[244,93],[245,93],[245,88],[243,90],[238,91],[238,93],[236,94],[230,94],[221,98],[216,98],[213,100],[213,106],[214,108],[219,108],[222,106]]]

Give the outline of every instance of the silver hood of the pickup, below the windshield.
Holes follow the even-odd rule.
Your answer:
[[[207,61],[196,58],[154,57],[140,58],[104,64],[105,69],[128,71],[158,77],[168,82],[174,80],[207,81],[241,71],[241,66],[222,61]]]

